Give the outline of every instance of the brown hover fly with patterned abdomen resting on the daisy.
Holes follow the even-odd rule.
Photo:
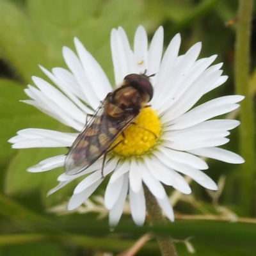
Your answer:
[[[120,88],[108,93],[99,108],[74,141],[65,159],[65,172],[75,175],[103,157],[102,177],[106,155],[115,146],[113,141],[122,134],[153,97],[150,76],[129,74]],[[136,124],[134,124],[136,125]],[[142,127],[143,128],[143,127]],[[122,141],[120,141],[122,142]]]

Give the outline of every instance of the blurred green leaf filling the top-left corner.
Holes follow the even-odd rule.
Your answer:
[[[14,72],[28,83],[32,74],[39,74],[38,59],[45,64],[45,45],[33,33],[33,26],[20,8],[4,0],[0,0],[0,6],[0,47]]]

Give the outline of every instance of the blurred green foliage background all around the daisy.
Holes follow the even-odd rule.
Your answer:
[[[152,228],[147,224],[136,227],[131,216],[124,214],[118,227],[111,232],[108,218],[97,218],[102,214],[100,211],[87,214],[49,212],[51,207],[65,205],[76,186],[72,183],[46,196],[47,191],[58,184],[56,177],[63,172],[61,168],[45,173],[26,172],[29,166],[47,157],[65,154],[65,149],[13,150],[7,142],[17,131],[29,127],[70,131],[37,109],[19,102],[28,99],[23,90],[32,83],[31,76],[47,79],[38,64],[49,70],[65,67],[61,48],[66,45],[74,49],[74,36],[99,61],[113,83],[109,39],[111,29],[118,26],[125,29],[131,44],[140,24],[145,26],[149,38],[162,25],[165,47],[176,33],[180,33],[180,54],[201,41],[200,58],[218,54],[215,63],[223,62],[223,74],[229,76],[227,83],[208,93],[203,100],[236,93],[234,55],[238,7],[238,0],[0,0],[0,256],[117,255],[152,231],[172,234],[174,239],[181,241],[193,237],[190,242],[196,255],[255,255],[253,167],[247,170],[242,165],[209,160],[207,174],[216,182],[220,180],[220,186],[223,184],[220,194],[209,194],[192,182],[192,195],[178,195],[174,223],[166,227]],[[255,13],[254,9],[253,17]],[[229,22],[229,26],[225,26],[230,20],[234,24]],[[251,99],[256,92],[255,24],[253,18]],[[239,118],[238,113],[234,116]],[[248,127],[248,131],[250,129],[254,128]],[[225,148],[246,158],[247,153],[239,150],[239,129],[232,131],[229,138],[230,143]],[[244,186],[241,180],[248,173],[251,178]],[[104,195],[107,182],[108,179],[104,180],[95,195]],[[248,190],[250,193],[244,192],[247,186],[252,188]],[[167,191],[172,195],[172,189],[167,188]],[[238,219],[234,217],[236,214]],[[204,220],[207,218],[211,220]],[[177,250],[179,255],[190,255],[184,243],[177,243]],[[138,255],[160,255],[156,241],[152,239],[145,244]]]

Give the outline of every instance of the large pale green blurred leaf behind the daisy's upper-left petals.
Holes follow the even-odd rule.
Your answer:
[[[111,29],[122,26],[132,38],[138,25],[152,27],[154,22],[145,15],[144,7],[136,0],[77,0],[76,4],[72,0],[28,1],[31,22],[37,28],[38,38],[47,45],[47,58],[53,65],[63,65],[63,61],[60,63],[61,47],[67,45],[74,49],[72,41],[77,36],[111,77],[112,83]]]

